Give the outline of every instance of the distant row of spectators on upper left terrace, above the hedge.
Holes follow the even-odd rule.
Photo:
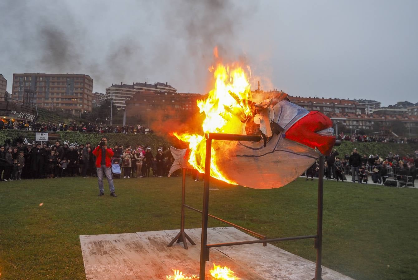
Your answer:
[[[0,129],[19,129],[31,131],[79,131],[86,133],[122,133],[122,134],[153,134],[154,131],[148,126],[109,126],[106,124],[92,124],[76,122],[72,124],[30,121],[7,121],[0,119]]]

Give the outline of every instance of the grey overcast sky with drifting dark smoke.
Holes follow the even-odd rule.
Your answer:
[[[56,3],[59,2],[59,3]],[[1,0],[0,73],[205,93],[215,45],[264,90],[418,102],[418,1]],[[109,2],[109,4],[104,4]]]

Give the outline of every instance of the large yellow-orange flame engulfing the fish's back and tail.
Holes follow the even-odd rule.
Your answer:
[[[209,91],[206,99],[197,101],[200,113],[205,114],[202,123],[203,132],[236,133],[242,121],[253,116],[254,112],[247,74],[240,66],[229,67],[218,64],[216,68],[209,68],[209,71],[212,72],[213,69],[214,88]],[[206,155],[204,136],[188,133],[173,135],[189,143],[189,163],[200,173],[204,173]],[[211,156],[210,175],[230,184],[236,184],[228,179],[217,165],[217,159],[225,155],[218,155],[212,147]]]

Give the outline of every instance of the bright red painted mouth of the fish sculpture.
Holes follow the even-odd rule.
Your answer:
[[[328,128],[332,128],[332,121],[321,112],[311,111],[286,131],[285,138],[329,155],[335,144],[335,136],[318,134]]]

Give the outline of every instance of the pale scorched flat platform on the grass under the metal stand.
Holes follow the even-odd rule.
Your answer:
[[[184,250],[182,243],[167,244],[178,230],[137,232],[111,235],[81,235],[80,244],[88,280],[143,279],[162,280],[173,269],[187,275],[199,274],[201,229],[187,229],[196,242]],[[208,229],[208,243],[254,240],[233,227]],[[210,250],[206,263],[206,279],[212,279],[213,264],[228,266],[243,280],[311,280],[315,263],[291,254],[274,245],[261,244],[219,247]],[[352,280],[339,272],[322,267],[324,280]]]

